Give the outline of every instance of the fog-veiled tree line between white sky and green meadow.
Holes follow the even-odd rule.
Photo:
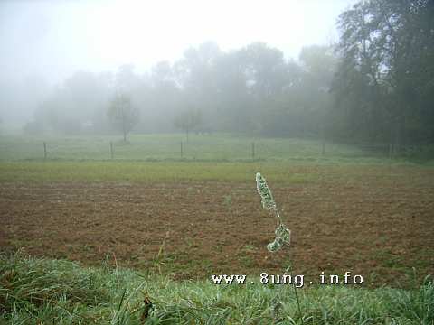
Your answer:
[[[204,42],[145,74],[79,71],[24,130],[433,142],[433,4],[361,1],[339,16],[338,42],[306,46],[297,60],[263,42],[233,51]]]

